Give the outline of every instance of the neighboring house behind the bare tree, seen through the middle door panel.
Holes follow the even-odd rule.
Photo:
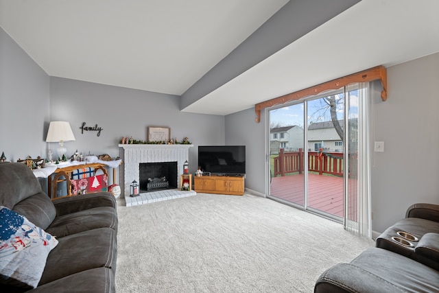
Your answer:
[[[355,126],[356,121],[357,119],[351,125]],[[344,129],[344,120],[338,122]],[[343,141],[335,131],[332,121],[311,123],[308,126],[308,150],[318,151],[320,148],[331,152],[343,152]]]

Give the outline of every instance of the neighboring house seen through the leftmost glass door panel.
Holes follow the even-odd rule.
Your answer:
[[[285,126],[270,129],[270,153],[277,154],[279,149],[294,151],[303,148],[303,128]]]

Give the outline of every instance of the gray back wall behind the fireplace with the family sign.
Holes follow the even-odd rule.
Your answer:
[[[224,144],[224,116],[183,113],[179,97],[65,78],[50,79],[51,120],[69,121],[75,141],[64,143],[68,153],[118,156],[121,137],[147,140],[148,126],[171,128],[171,137],[189,137],[189,170],[195,172],[198,145]],[[80,127],[102,127],[101,134]],[[56,150],[57,143],[49,143]]]

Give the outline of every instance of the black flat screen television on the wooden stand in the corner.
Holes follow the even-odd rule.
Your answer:
[[[200,145],[198,166],[212,175],[239,176],[246,174],[245,145]]]

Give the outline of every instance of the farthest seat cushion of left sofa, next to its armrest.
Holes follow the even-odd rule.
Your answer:
[[[95,228],[117,229],[117,214],[112,207],[95,207],[76,213],[68,213],[56,217],[46,229],[51,235],[64,237],[67,235],[92,230]]]

